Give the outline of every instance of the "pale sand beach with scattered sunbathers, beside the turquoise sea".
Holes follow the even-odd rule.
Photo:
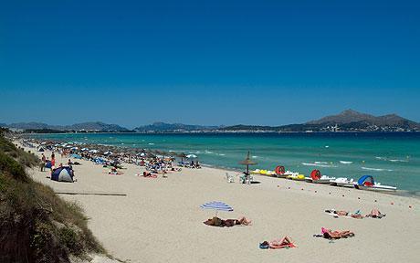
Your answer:
[[[66,161],[57,156],[57,163]],[[49,172],[32,174],[56,192],[123,194],[60,196],[78,202],[94,236],[112,256],[127,262],[418,262],[420,202],[415,198],[258,175],[260,184],[228,184],[227,171],[213,168],[153,179],[135,175],[143,168],[124,164],[124,174],[109,175],[101,165],[79,162],[73,184],[51,181]],[[234,208],[219,217],[247,216],[252,226],[205,226],[215,212],[199,205],[209,201]],[[362,215],[378,208],[386,216],[334,218],[324,212],[329,208],[361,209]],[[322,226],[351,230],[355,237],[333,242],[313,237]],[[258,247],[284,236],[298,247]]]

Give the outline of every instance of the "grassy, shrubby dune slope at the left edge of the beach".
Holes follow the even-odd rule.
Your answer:
[[[0,135],[0,262],[70,262],[105,253],[81,207],[26,174],[37,163]]]

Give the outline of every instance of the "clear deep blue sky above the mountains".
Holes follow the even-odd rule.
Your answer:
[[[418,1],[2,1],[0,122],[420,121]]]

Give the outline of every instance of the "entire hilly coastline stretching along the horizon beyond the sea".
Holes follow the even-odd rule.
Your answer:
[[[26,133],[229,133],[229,132],[420,132],[420,123],[410,121],[396,114],[373,116],[355,110],[344,110],[316,121],[281,126],[232,125],[203,126],[183,123],[154,122],[151,125],[128,129],[118,124],[90,121],[72,125],[48,125],[41,122],[19,122],[0,124],[14,132]]]

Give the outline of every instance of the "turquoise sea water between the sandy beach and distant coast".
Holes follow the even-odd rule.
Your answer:
[[[202,163],[240,169],[251,151],[252,168],[310,174],[319,169],[335,177],[371,174],[412,194],[420,193],[420,133],[229,133],[229,134],[37,134],[63,142],[194,153]],[[341,163],[352,162],[352,163]]]

